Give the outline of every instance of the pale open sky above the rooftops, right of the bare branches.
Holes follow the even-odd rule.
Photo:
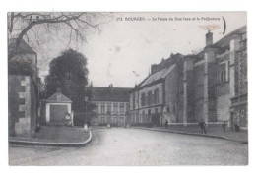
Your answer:
[[[110,84],[134,87],[149,75],[151,64],[160,63],[171,53],[186,55],[203,49],[208,29],[212,29],[216,42],[247,23],[244,12],[113,13],[113,16],[111,22],[100,26],[100,33],[89,34],[87,43],[78,48],[88,59],[89,81],[95,87]],[[132,21],[134,17],[143,20]],[[64,49],[61,43],[54,44],[49,57],[56,57]],[[40,74],[45,76],[47,69]]]

